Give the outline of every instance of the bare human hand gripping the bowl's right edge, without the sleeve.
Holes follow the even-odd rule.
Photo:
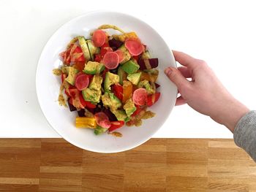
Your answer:
[[[176,105],[187,103],[233,132],[238,120],[249,109],[227,91],[205,61],[174,50],[173,55],[182,66],[178,69],[168,67],[165,74],[176,84],[181,94]],[[192,81],[187,78],[192,78]]]

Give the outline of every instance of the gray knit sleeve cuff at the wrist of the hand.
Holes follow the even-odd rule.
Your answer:
[[[250,111],[241,118],[234,131],[234,141],[256,162],[256,111]]]

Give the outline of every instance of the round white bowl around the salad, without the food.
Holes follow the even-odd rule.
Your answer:
[[[135,31],[142,42],[147,45],[152,57],[159,58],[159,77],[157,82],[161,87],[161,97],[157,104],[150,108],[156,112],[154,118],[143,120],[140,127],[127,127],[118,129],[123,137],[113,137],[110,134],[94,135],[89,128],[75,128],[77,112],[69,112],[66,107],[58,103],[60,77],[53,75],[52,70],[61,65],[59,53],[65,50],[72,37],[83,35],[89,37],[102,24],[111,24],[124,31]],[[118,12],[89,12],[78,18],[70,20],[59,28],[48,40],[37,65],[36,86],[37,98],[45,118],[64,139],[68,142],[99,153],[116,153],[132,149],[150,139],[162,126],[170,115],[176,102],[177,88],[167,79],[164,70],[167,66],[176,67],[176,61],[168,46],[157,32],[148,24]]]

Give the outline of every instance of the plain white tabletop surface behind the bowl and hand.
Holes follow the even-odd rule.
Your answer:
[[[35,92],[37,61],[54,31],[68,20],[94,10],[124,12],[144,20],[170,49],[207,61],[237,99],[256,109],[254,1],[1,0],[0,137],[60,137],[39,108]],[[173,109],[154,137],[233,135],[184,105]]]

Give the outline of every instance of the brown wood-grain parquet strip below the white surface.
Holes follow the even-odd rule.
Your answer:
[[[0,139],[0,191],[256,192],[256,164],[232,139],[150,139],[113,154]]]

